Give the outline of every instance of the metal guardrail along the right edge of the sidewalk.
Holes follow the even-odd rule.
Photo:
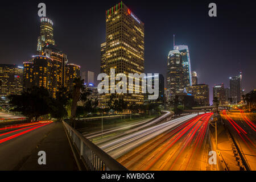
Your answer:
[[[86,139],[82,134],[68,125],[68,123],[63,121],[63,125],[73,144],[75,144],[80,159],[84,162],[86,169],[90,171],[128,171],[127,168],[123,167],[110,155],[101,150],[101,148]]]

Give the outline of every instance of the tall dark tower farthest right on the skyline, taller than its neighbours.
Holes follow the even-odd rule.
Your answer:
[[[233,104],[237,104],[241,101],[241,81],[242,73],[229,78],[230,98],[232,98]]]

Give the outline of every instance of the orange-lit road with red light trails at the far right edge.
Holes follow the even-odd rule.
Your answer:
[[[256,125],[243,110],[223,110],[221,117],[250,169],[256,170]]]

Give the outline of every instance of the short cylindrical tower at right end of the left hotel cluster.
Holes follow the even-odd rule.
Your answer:
[[[66,65],[66,86],[67,90],[71,91],[73,88],[73,80],[74,78],[78,78],[80,76],[80,66],[76,64],[67,64]]]

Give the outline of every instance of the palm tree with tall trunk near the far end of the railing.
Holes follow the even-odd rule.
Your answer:
[[[72,90],[72,105],[71,105],[71,122],[73,123],[73,127],[75,129],[75,117],[76,117],[76,109],[77,102],[80,100],[80,90],[84,88],[84,80],[81,80],[81,77],[74,78],[73,80],[73,90]]]

